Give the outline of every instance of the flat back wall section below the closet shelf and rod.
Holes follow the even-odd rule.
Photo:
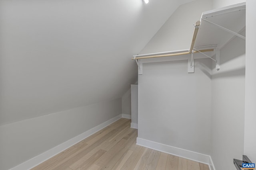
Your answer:
[[[138,137],[210,154],[211,61],[144,63],[138,76]]]

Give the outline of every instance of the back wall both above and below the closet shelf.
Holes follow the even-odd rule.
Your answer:
[[[211,0],[181,5],[140,54],[188,49],[193,23],[211,9]],[[143,64],[143,75],[138,76],[138,137],[210,154],[211,62],[196,60],[194,74],[188,74],[187,65]]]

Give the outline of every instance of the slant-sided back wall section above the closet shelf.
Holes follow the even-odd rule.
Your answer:
[[[193,24],[200,20],[202,12],[211,9],[211,0],[196,0],[180,5],[140,54],[189,49],[194,32]]]

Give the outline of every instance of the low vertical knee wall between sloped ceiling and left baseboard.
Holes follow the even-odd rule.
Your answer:
[[[0,169],[7,170],[119,115],[121,98],[0,126]]]

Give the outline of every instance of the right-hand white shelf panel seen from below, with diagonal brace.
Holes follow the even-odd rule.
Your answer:
[[[241,34],[245,30],[246,23],[246,3],[235,4],[216,10],[202,13],[201,25],[194,47],[204,45],[217,45],[217,49],[222,49],[236,35],[213,25],[212,23],[225,27],[235,33]],[[204,20],[205,19],[205,20]]]

